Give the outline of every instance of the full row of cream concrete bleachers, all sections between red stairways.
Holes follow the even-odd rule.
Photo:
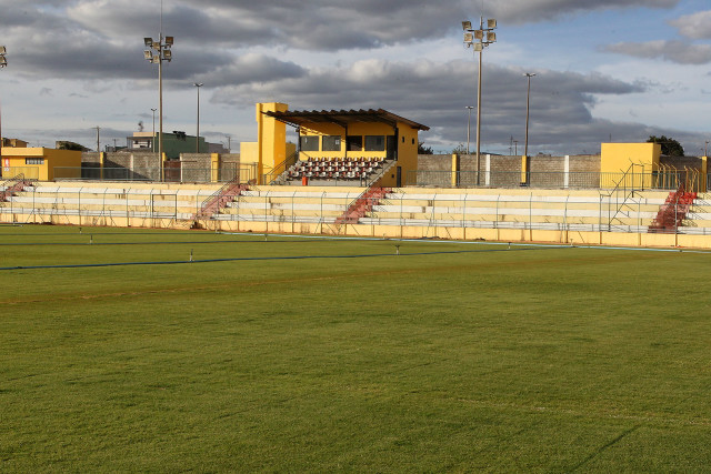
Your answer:
[[[52,222],[131,226],[186,226],[220,184],[37,183],[0,203],[2,222]],[[356,226],[534,229],[644,233],[669,192],[632,195],[604,190],[401,188],[373,202],[364,216],[342,225],[365,188],[258,186],[236,196],[206,219],[203,226],[249,223],[303,223],[286,232],[350,232]],[[339,223],[340,222],[340,223]],[[282,229],[276,225],[268,228]],[[254,226],[254,229],[261,229]],[[681,233],[711,234],[711,194],[701,194]],[[425,234],[424,231],[421,232]]]

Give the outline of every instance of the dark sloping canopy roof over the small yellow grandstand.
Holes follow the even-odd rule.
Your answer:
[[[273,117],[280,122],[288,123],[293,127],[301,127],[308,123],[336,123],[346,128],[357,122],[379,122],[395,127],[398,123],[405,123],[417,130],[430,130],[423,125],[403,117],[388,112],[383,109],[369,110],[287,110],[284,112],[263,112],[269,117]]]

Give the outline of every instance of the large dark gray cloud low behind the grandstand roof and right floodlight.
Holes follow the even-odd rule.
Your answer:
[[[517,68],[490,65],[484,70],[482,133],[487,145],[504,147],[511,135],[520,140],[525,120],[525,78]],[[642,92],[640,84],[601,74],[538,71],[531,92],[531,143],[547,150],[599,147],[609,133],[640,139],[645,128],[593,119],[597,94]],[[433,144],[461,142],[464,105],[475,105],[473,65],[460,61],[400,63],[367,60],[336,69],[314,69],[298,79],[224,87],[212,101],[251,107],[270,98],[291,109],[384,108],[432,128],[423,135]],[[640,130],[643,130],[640,132]]]

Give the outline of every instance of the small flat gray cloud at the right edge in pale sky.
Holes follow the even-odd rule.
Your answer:
[[[705,64],[711,62],[711,46],[689,44],[683,41],[648,41],[644,43],[617,43],[605,51],[645,59],[663,59],[679,64]]]

